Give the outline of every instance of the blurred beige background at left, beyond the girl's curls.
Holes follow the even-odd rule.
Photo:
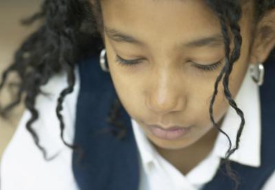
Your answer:
[[[39,10],[42,0],[0,0],[0,73],[13,60],[14,51],[37,26],[24,27],[21,19]],[[11,76],[12,78],[12,76]],[[0,102],[8,102],[9,93],[0,93]],[[18,106],[8,119],[0,117],[0,159],[8,145],[23,113],[23,105]]]

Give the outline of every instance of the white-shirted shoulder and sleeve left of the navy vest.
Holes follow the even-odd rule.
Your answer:
[[[80,86],[78,68],[75,73],[76,85],[73,93],[65,98],[62,112],[65,121],[65,140],[68,143],[72,143],[74,139],[76,102]],[[31,117],[30,112],[26,110],[1,160],[1,189],[76,189],[71,171],[72,150],[61,141],[59,121],[56,117],[57,99],[66,86],[67,76],[61,73],[41,87],[43,94],[36,98],[35,106],[39,111],[39,119],[32,125],[48,155],[58,156],[50,162],[44,160],[30,132],[25,128]],[[58,176],[66,176],[63,178],[66,181],[58,182]],[[66,184],[70,186],[64,187]]]

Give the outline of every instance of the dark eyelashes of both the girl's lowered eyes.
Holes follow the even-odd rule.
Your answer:
[[[119,64],[121,64],[122,66],[135,66],[136,64],[139,64],[140,62],[142,62],[142,59],[125,60],[125,59],[121,58],[120,56],[116,55],[115,61],[118,62]],[[196,67],[197,69],[199,69],[201,71],[210,72],[210,71],[215,71],[215,70],[219,69],[222,62],[221,61],[214,62],[213,64],[208,64],[208,65],[201,65],[196,62],[193,62],[193,63],[195,64],[194,67]]]

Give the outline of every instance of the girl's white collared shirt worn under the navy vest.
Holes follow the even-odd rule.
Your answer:
[[[69,143],[74,139],[74,123],[76,117],[76,102],[80,88],[78,70],[76,69],[76,86],[74,92],[65,98],[63,117],[65,120],[65,140]],[[39,119],[33,124],[39,134],[41,145],[45,147],[50,156],[58,156],[50,162],[43,159],[41,151],[36,147],[30,132],[26,130],[25,123],[30,118],[30,112],[25,111],[21,122],[14,133],[11,142],[6,148],[0,165],[1,190],[77,190],[77,184],[72,172],[72,150],[66,147],[60,138],[59,122],[56,118],[56,99],[67,85],[66,75],[56,75],[50,82],[43,86],[43,91],[52,94],[50,97],[39,95],[36,108],[39,109]],[[245,99],[241,99],[245,95]],[[248,100],[249,99],[249,100]],[[255,102],[250,107],[250,102]],[[260,134],[261,117],[259,108],[259,89],[245,77],[241,90],[236,97],[239,107],[245,112],[246,124],[241,136],[241,144],[231,157],[231,160],[243,165],[258,167],[260,160]],[[239,117],[232,110],[228,111],[223,129],[234,138],[239,126]],[[197,167],[186,176],[181,175],[173,165],[159,156],[152,148],[137,123],[131,120],[138,150],[140,152],[142,190],[166,189],[199,189],[214,176],[219,157],[223,157],[228,147],[228,141],[219,135],[214,144],[214,149]],[[253,129],[253,130],[252,130]],[[253,139],[253,141],[250,141]],[[206,174],[206,175],[205,175]],[[173,188],[171,188],[173,187]],[[265,185],[264,190],[273,190],[275,187],[275,174]]]

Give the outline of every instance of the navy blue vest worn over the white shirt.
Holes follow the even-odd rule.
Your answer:
[[[241,176],[242,190],[261,189],[275,169],[275,62],[267,60],[265,69],[265,84],[261,87],[261,167],[231,164]],[[111,132],[100,132],[114,128],[106,119],[111,104],[117,98],[111,77],[100,69],[98,56],[81,62],[79,71],[80,93],[74,143],[82,148],[83,155],[80,158],[80,154],[73,154],[76,182],[82,190],[137,190],[140,167],[131,118],[122,108],[122,120],[127,126],[122,140]],[[203,189],[233,189],[234,183],[223,171],[219,169]]]

